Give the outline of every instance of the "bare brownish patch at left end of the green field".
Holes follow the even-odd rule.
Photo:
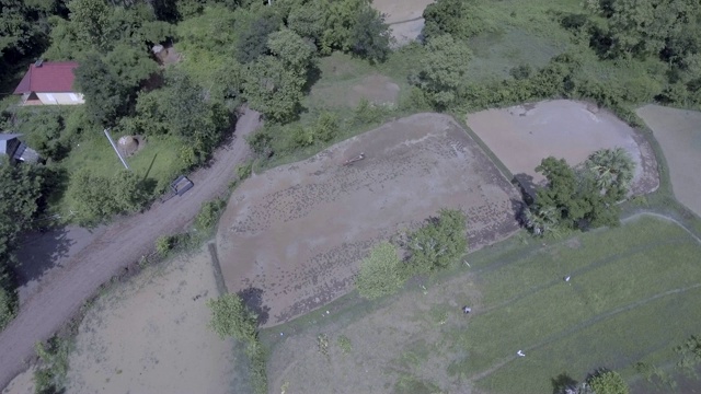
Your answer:
[[[269,393],[284,385],[286,394],[472,393],[464,376],[448,372],[457,346],[449,333],[469,329],[473,318],[463,305],[482,305],[472,274],[404,291],[361,317],[332,313],[308,329],[286,332],[268,362]],[[319,351],[319,334],[329,338],[327,356]],[[350,351],[338,346],[341,336]],[[400,380],[415,383],[394,389]]]

